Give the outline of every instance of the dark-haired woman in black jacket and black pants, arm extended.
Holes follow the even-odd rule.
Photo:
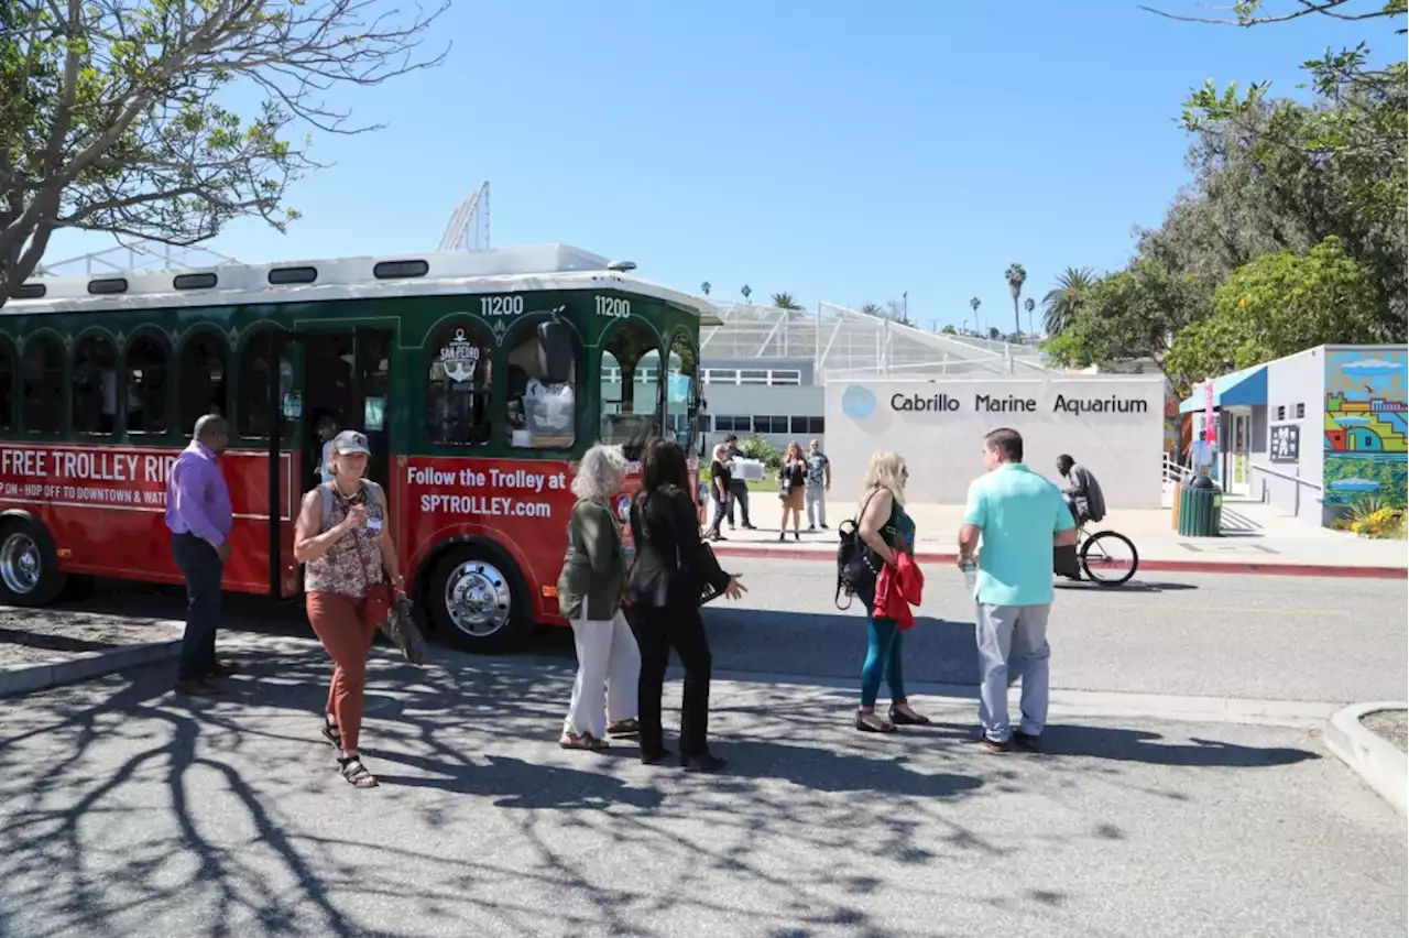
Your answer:
[[[645,451],[641,490],[631,501],[631,606],[638,617],[641,645],[640,721],[641,762],[664,761],[661,693],[671,648],[685,668],[685,700],[681,707],[681,765],[714,772],[724,759],[709,751],[709,639],[700,620],[704,587],[728,599],[744,593],[737,576],[713,563],[700,541],[695,500],[690,497],[685,451],[671,439],[655,439]]]

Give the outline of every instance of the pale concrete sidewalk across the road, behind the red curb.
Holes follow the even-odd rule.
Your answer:
[[[755,496],[752,518],[758,531],[724,530],[716,545],[721,556],[775,556],[827,561],[834,556],[837,525],[855,514],[857,504],[827,503],[830,531],[792,532],[779,541],[781,510],[774,499]],[[954,538],[964,506],[906,506],[917,528],[917,552],[924,559],[952,561]],[[1172,530],[1168,508],[1115,510],[1088,531],[1119,531],[1140,552],[1140,569],[1158,572],[1268,573],[1277,576],[1409,577],[1409,541],[1371,541],[1344,531],[1317,528],[1260,501],[1224,497],[1223,537],[1188,538]]]

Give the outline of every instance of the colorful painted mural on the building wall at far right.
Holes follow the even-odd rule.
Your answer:
[[[1326,352],[1326,506],[1409,506],[1409,348]]]

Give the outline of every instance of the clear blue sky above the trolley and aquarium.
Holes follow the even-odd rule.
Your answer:
[[[211,246],[426,251],[488,179],[496,246],[573,244],[716,297],[909,292],[921,324],[958,325],[978,296],[1006,330],[1010,262],[1040,301],[1158,224],[1188,179],[1191,87],[1291,94],[1299,62],[1386,32],[1179,24],[1131,0],[458,0],[431,38],[454,42],[442,68],[345,94],[387,128],[316,138],[337,165],[290,192],[304,218]],[[106,244],[65,237],[49,259]]]

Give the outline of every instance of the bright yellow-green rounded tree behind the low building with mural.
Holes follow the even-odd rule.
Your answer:
[[[1385,338],[1379,284],[1339,238],[1265,254],[1213,294],[1213,313],[1184,328],[1167,368],[1181,384],[1324,344]]]

